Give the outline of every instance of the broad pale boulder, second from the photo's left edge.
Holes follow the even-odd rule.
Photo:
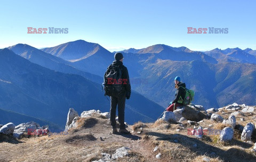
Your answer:
[[[37,128],[39,128],[40,125],[35,123],[35,122],[28,122],[28,123],[21,123],[17,126],[15,126],[14,132],[13,132],[13,136],[17,139],[20,138],[20,136],[22,134],[24,134],[25,132],[29,133],[33,133],[36,131]]]

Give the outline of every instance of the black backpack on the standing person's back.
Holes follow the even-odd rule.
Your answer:
[[[104,76],[104,90],[105,95],[116,96],[122,90],[122,71],[119,66],[111,64]]]

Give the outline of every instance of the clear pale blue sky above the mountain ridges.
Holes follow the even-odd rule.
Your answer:
[[[255,1],[1,1],[0,48],[52,47],[83,39],[108,50],[154,44],[191,50],[252,48]],[[68,34],[27,34],[27,27],[68,28]],[[228,34],[187,34],[187,27],[228,28]]]

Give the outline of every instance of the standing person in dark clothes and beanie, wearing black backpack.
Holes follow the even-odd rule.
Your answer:
[[[116,53],[115,60],[105,73],[105,95],[110,96],[110,124],[112,133],[118,134],[116,128],[116,107],[118,105],[118,122],[120,134],[130,134],[124,124],[125,99],[130,99],[131,85],[127,68],[123,65],[123,54]]]

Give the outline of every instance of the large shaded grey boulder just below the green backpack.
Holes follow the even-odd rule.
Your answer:
[[[198,110],[194,110],[188,106],[183,107],[184,110],[182,111],[182,116],[185,117],[187,120],[199,122],[207,116]]]

